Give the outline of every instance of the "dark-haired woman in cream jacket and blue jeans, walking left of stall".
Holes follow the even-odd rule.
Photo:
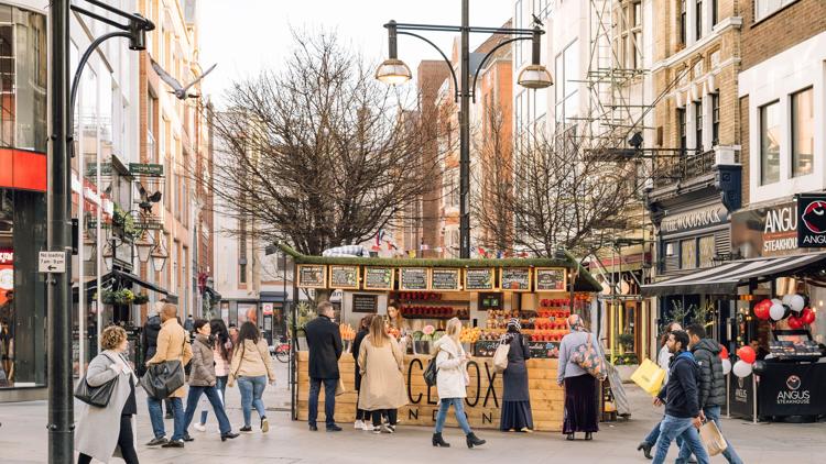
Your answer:
[[[275,371],[270,356],[270,347],[261,336],[261,332],[254,323],[247,321],[238,331],[238,344],[232,353],[232,363],[229,366],[229,386],[238,380],[238,389],[241,391],[241,410],[243,411],[243,427],[241,432],[252,431],[252,408],[258,411],[261,420],[261,432],[270,431],[270,421],[267,419],[267,409],[261,397],[267,388],[267,382],[275,382]]]

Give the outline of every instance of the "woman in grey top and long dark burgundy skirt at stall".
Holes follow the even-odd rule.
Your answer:
[[[594,433],[599,431],[597,410],[598,380],[587,371],[574,363],[572,355],[579,346],[591,343],[591,346],[605,358],[599,340],[585,329],[585,323],[578,314],[567,319],[570,333],[563,336],[559,343],[559,364],[556,373],[556,384],[565,384],[565,419],[562,433],[567,440],[576,439],[576,432],[585,432],[585,440],[593,440]]]

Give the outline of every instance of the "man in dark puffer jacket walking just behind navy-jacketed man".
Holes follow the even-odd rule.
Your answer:
[[[706,329],[700,324],[691,324],[688,332],[688,350],[694,354],[699,372],[699,409],[700,418],[711,420],[720,430],[720,410],[726,405],[726,375],[722,374],[722,360],[720,358],[720,344],[713,339],[706,338]],[[722,456],[729,463],[742,464],[731,443],[726,440],[726,450]],[[683,442],[680,448],[677,462],[687,462],[692,452]]]

